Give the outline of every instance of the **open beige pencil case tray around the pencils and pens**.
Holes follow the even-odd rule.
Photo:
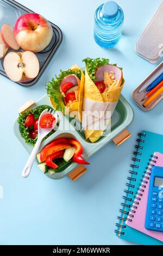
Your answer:
[[[135,101],[135,103],[143,110],[143,111],[150,111],[152,110],[158,103],[159,101],[162,99],[163,94],[160,94],[159,96],[157,96],[147,107],[143,106],[143,102],[142,99],[143,97],[146,95],[146,88],[143,89],[141,92],[141,88],[145,86],[146,83],[148,83],[149,80],[152,79],[152,77],[155,76],[156,73],[162,72],[163,74],[163,62],[160,63],[160,65],[158,65],[151,74],[149,74],[149,76],[147,76],[145,78],[145,80],[143,80],[138,87],[136,87],[136,89],[133,91],[132,93],[132,98]]]

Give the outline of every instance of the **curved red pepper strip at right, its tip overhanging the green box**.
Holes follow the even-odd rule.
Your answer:
[[[73,162],[75,163],[81,163],[81,164],[90,164],[89,162],[86,162],[83,158],[82,158],[82,154],[83,154],[83,147],[80,144],[79,141],[77,141],[77,139],[67,139],[68,143],[70,143],[70,145],[72,145],[74,148],[76,148],[76,151],[72,157]]]

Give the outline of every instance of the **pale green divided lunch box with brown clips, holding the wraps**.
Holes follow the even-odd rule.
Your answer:
[[[23,109],[24,106],[27,109],[27,106],[30,107],[31,105],[33,105],[34,107],[41,106],[41,105],[51,106],[51,103],[49,101],[48,95],[45,95],[36,102],[34,102],[33,100],[28,101],[23,105],[23,107],[20,107],[19,109]],[[131,136],[130,132],[126,128],[130,125],[131,121],[133,120],[134,112],[131,106],[129,105],[129,103],[127,102],[127,100],[124,99],[122,95],[120,96],[120,100],[118,101],[114,114],[112,115],[112,118],[111,118],[111,131],[106,131],[105,136],[101,137],[95,143],[86,141],[84,137],[84,133],[76,129],[76,127],[78,126],[78,121],[76,119],[70,118],[67,115],[63,115],[61,112],[58,112],[58,111],[57,113],[59,116],[58,129],[53,133],[53,135],[49,136],[45,141],[41,143],[40,150],[43,147],[45,147],[45,145],[47,145],[48,143],[54,141],[54,139],[56,138],[73,137],[73,138],[76,138],[82,144],[82,147],[84,150],[83,156],[84,156],[84,159],[87,160],[93,154],[97,153],[97,151],[102,147],[104,147],[104,145],[106,145],[107,143],[114,141],[116,145],[120,145]],[[19,141],[22,143],[23,147],[26,148],[26,150],[30,154],[33,150],[33,147],[32,145],[26,144],[24,139],[21,137],[17,119],[14,124],[14,133],[16,137],[19,139]],[[45,175],[47,175],[51,179],[61,179],[61,178],[64,178],[66,175],[68,175],[74,181],[74,180],[77,180],[85,172],[86,172],[85,166],[81,164],[79,165],[73,162],[73,163],[70,163],[64,169],[62,169],[61,172],[56,172],[53,175],[49,175],[48,173],[46,173]]]

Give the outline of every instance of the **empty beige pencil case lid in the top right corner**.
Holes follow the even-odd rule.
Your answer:
[[[163,52],[163,2],[135,44],[135,52],[151,63],[156,63]]]

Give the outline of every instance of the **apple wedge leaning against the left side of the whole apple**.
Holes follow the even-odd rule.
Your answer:
[[[13,29],[9,24],[3,24],[1,28],[1,37],[5,44],[10,49],[18,50],[20,46],[17,44],[17,41],[14,37]]]

